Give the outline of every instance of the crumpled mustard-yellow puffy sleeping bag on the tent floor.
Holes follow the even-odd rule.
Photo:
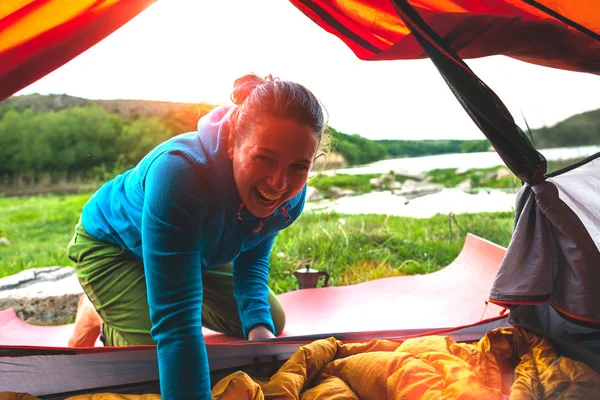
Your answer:
[[[490,331],[478,343],[425,336],[403,343],[342,344],[334,338],[300,348],[266,382],[235,372],[213,399],[591,399],[600,375],[559,357],[541,336],[517,328]]]

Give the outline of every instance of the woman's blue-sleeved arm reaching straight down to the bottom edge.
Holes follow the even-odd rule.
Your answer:
[[[185,155],[163,154],[144,185],[144,268],[164,400],[210,398],[200,262],[207,186],[192,165]]]

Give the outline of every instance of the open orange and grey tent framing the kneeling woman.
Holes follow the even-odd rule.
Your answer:
[[[100,41],[150,3],[82,0],[66,8],[60,0],[22,0],[3,5],[0,100]],[[562,354],[600,370],[600,201],[593,195],[600,184],[600,154],[547,174],[543,155],[515,124],[502,101],[462,60],[504,54],[539,65],[600,74],[600,5],[594,0],[581,0],[576,6],[562,0],[292,3],[361,59],[429,57],[506,165],[524,182],[516,203],[513,238],[489,295],[491,303],[510,309],[508,321],[486,320],[463,329],[481,336],[497,321],[525,327],[550,338]],[[446,332],[465,334],[460,328]],[[319,333],[345,337],[344,332]],[[391,336],[402,339],[407,332],[397,331]],[[219,360],[215,365],[227,369],[241,367],[260,354],[285,357],[294,346],[316,337],[278,339],[268,345],[216,345],[223,347],[215,347],[212,353],[209,350],[211,364]],[[350,335],[349,340],[371,337]],[[234,356],[228,346],[235,346]],[[34,363],[43,358],[46,366],[56,367],[53,376],[59,379],[56,374],[60,372],[56,371],[83,373],[81,366],[91,362],[90,358],[99,363],[92,365],[100,365],[122,357],[133,364],[124,362],[130,373],[121,376],[135,375],[131,371],[141,371],[142,365],[148,367],[146,375],[126,382],[132,385],[155,379],[151,354],[152,349],[73,351],[5,345],[0,351],[0,365],[3,372],[14,372],[18,360],[19,370],[33,376],[48,370]],[[10,357],[11,363],[5,357]],[[54,364],[59,358],[66,363],[64,369],[57,367],[63,364]],[[219,364],[223,360],[226,362]],[[46,394],[69,391],[62,386],[67,378],[61,379],[57,382],[62,389],[55,387]],[[112,379],[107,378],[99,385],[106,387],[110,382]],[[31,385],[27,382],[25,386]]]

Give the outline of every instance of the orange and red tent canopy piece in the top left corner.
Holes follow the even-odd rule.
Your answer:
[[[0,101],[92,47],[154,1],[0,2]]]

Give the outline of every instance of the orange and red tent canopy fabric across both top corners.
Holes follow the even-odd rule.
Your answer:
[[[154,1],[0,2],[0,101],[93,46]],[[396,13],[393,0],[291,2],[339,36],[361,59],[425,57]],[[505,54],[541,65],[600,73],[600,3],[596,0],[410,3],[463,58]],[[564,17],[581,29],[551,15]]]

